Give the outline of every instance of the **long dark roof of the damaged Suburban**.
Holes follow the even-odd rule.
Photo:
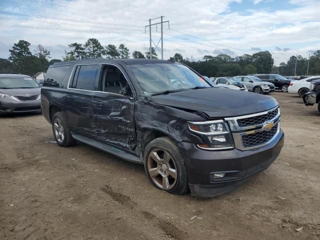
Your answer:
[[[54,66],[58,65],[65,65],[67,63],[107,63],[107,62],[116,62],[116,63],[124,63],[126,65],[133,65],[133,64],[150,64],[150,63],[174,63],[172,60],[160,60],[160,59],[136,59],[136,58],[131,58],[131,59],[106,59],[106,58],[92,58],[92,59],[83,59],[83,60],[71,60],[71,61],[60,61],[60,62],[54,62]]]

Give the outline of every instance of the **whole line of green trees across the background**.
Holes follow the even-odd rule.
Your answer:
[[[33,75],[38,71],[46,71],[47,67],[60,59],[50,59],[50,51],[38,44],[33,53],[30,50],[30,43],[25,40],[19,40],[14,43],[12,49],[9,49],[7,59],[0,58],[0,73],[18,72],[27,75]],[[105,57],[107,59],[116,58],[149,58],[150,51],[142,53],[134,50],[130,55],[130,50],[124,45],[118,46],[107,44],[102,46],[96,38],[89,38],[83,44],[73,42],[68,44],[69,50],[64,51],[63,60],[88,59],[96,57]],[[153,59],[157,59],[155,49],[151,48]],[[298,55],[291,56],[287,62],[281,62],[279,66],[273,65],[272,54],[269,51],[259,51],[253,54],[243,54],[231,57],[227,54],[218,54],[216,56],[204,55],[200,60],[194,60],[191,56],[183,57],[180,53],[175,53],[171,59],[184,63],[202,75],[206,76],[234,76],[253,73],[278,73],[281,75],[292,75],[295,59],[297,60],[296,75],[306,74],[308,59]],[[317,50],[310,56],[309,75],[320,73],[320,50]]]

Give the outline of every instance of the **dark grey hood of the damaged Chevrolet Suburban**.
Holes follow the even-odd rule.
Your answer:
[[[212,118],[252,114],[278,105],[270,96],[214,87],[155,95],[152,100],[162,105],[202,111]]]

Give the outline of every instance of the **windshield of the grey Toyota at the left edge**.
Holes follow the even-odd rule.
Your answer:
[[[0,77],[0,88],[38,88],[40,87],[32,78],[5,78]]]

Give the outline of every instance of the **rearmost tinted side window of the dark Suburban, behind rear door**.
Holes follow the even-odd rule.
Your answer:
[[[69,66],[56,66],[47,69],[43,86],[60,87]]]

